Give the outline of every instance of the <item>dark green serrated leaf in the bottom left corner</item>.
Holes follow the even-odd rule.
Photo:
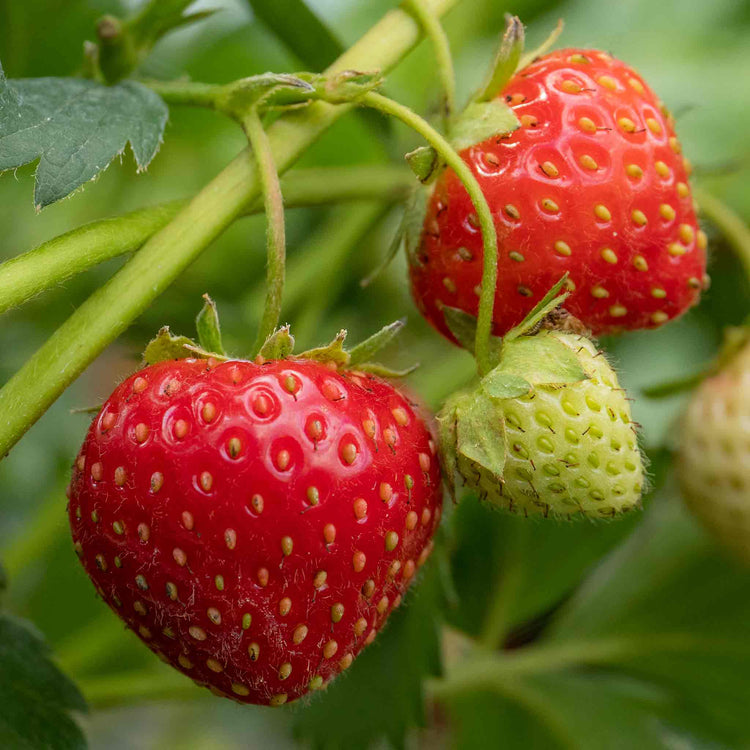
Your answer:
[[[74,711],[86,711],[86,703],[53,664],[41,634],[0,612],[0,745],[83,750]]]

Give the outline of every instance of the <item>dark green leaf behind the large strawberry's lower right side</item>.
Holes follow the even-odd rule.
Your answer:
[[[433,558],[440,552],[438,544]],[[299,739],[318,750],[375,747],[381,739],[400,748],[411,728],[424,725],[422,683],[440,670],[438,562],[425,566],[372,646],[324,693],[298,707]]]

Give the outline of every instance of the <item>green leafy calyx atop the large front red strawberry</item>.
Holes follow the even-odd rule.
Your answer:
[[[143,352],[143,365],[153,365],[174,359],[214,359],[220,362],[230,357],[224,351],[221,339],[221,326],[215,302],[207,294],[203,295],[204,304],[196,318],[198,341],[181,335],[175,335],[168,326],[160,328]],[[370,358],[387,346],[403,329],[405,320],[397,320],[381,328],[369,338],[353,346],[344,348],[347,331],[340,330],[330,343],[294,353],[294,336],[289,325],[277,328],[265,341],[256,357],[256,361],[265,362],[279,359],[309,359],[322,362],[336,370],[356,368],[384,378],[399,378],[413,372],[418,365],[405,370],[393,370]]]

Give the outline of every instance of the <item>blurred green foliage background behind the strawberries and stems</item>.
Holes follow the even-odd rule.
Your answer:
[[[74,74],[95,20],[132,5],[0,0],[0,61],[6,74]],[[395,3],[309,0],[308,5],[348,46]],[[207,0],[195,7],[222,12],[163,40],[144,65],[144,75],[226,82],[310,67],[254,17],[251,3]],[[528,24],[529,47],[562,17],[561,45],[603,48],[636,67],[677,116],[696,183],[747,219],[750,4],[463,0],[445,23],[464,97],[483,74],[505,12]],[[427,114],[436,112],[436,87],[425,43],[386,84],[390,96]],[[400,162],[416,145],[419,141],[401,125],[380,129],[347,116],[301,164]],[[218,115],[173,108],[165,142],[146,174],[135,174],[126,153],[122,164],[115,162],[83,191],[36,214],[33,167],[6,173],[0,178],[0,261],[81,223],[190,196],[242,146],[239,129]],[[304,277],[306,291],[285,307],[283,317],[307,346],[330,339],[340,327],[356,340],[407,316],[406,333],[387,358],[395,366],[421,362],[410,386],[437,406],[471,376],[472,360],[420,319],[409,299],[403,258],[367,289],[359,286],[383,257],[398,220],[399,210],[388,206],[289,210],[290,274]],[[309,705],[269,711],[202,692],[182,695],[183,700],[161,697],[122,705],[112,698],[113,675],[142,673],[147,679],[165,668],[97,601],[72,553],[63,491],[88,417],[70,410],[106,397],[113,383],[135,368],[160,326],[191,335],[204,292],[217,301],[227,348],[237,354],[247,349],[262,305],[264,220],[233,225],[0,463],[0,558],[11,579],[6,604],[37,624],[61,663],[90,689],[94,709],[83,724],[91,746],[750,747],[750,573],[725,559],[679,504],[669,450],[685,396],[659,401],[639,396],[641,388],[708,361],[722,329],[740,323],[750,307],[740,264],[713,228],[706,228],[713,284],[700,307],[660,331],[604,342],[637,398],[634,416],[643,424],[652,461],[655,489],[644,514],[610,525],[529,524],[467,497],[447,521],[443,554],[403,611],[351,674]],[[334,258],[332,238],[342,234],[350,251]],[[122,262],[106,263],[0,318],[0,383]],[[615,649],[593,664],[580,647],[584,655],[565,668],[509,676],[500,686],[478,686],[442,707],[428,700],[423,713],[420,684],[439,670],[439,653],[448,665],[460,663],[464,638],[482,631],[490,611],[501,624],[505,645],[524,651],[612,638],[636,645],[632,653],[618,655]],[[443,631],[441,645],[436,633],[446,622],[450,630]],[[684,653],[674,646],[669,638],[675,633],[690,634],[694,650]],[[719,637],[724,646],[715,648]],[[655,653],[659,638],[674,647]]]

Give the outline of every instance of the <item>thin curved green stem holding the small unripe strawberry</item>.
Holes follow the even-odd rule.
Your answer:
[[[426,120],[412,112],[408,107],[375,92],[365,94],[357,100],[357,104],[372,107],[384,114],[391,115],[419,133],[456,173],[469,194],[474,210],[477,212],[484,245],[482,291],[479,296],[479,316],[477,318],[474,352],[479,374],[484,375],[492,369],[490,336],[492,334],[492,313],[495,306],[495,287],[497,286],[497,233],[495,222],[492,220],[492,212],[484,193],[482,193],[482,188],[479,187],[471,169],[453,146]]]

